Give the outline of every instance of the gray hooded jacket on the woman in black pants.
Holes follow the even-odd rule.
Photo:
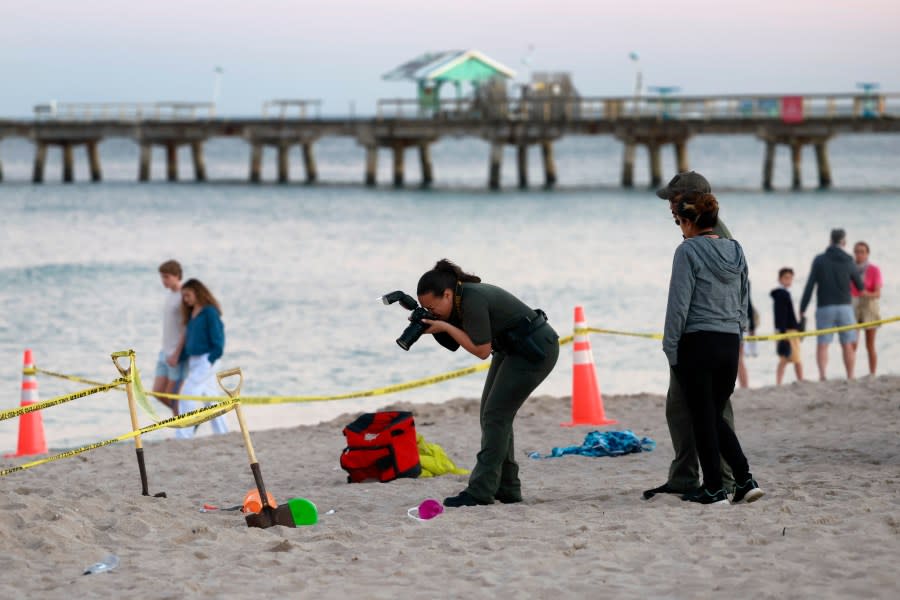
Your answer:
[[[678,342],[692,331],[740,335],[747,326],[747,260],[735,240],[698,236],[672,259],[663,352],[678,364]]]

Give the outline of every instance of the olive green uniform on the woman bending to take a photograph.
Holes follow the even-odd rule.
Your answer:
[[[503,332],[536,313],[518,298],[487,283],[464,283],[449,322],[466,332],[472,343],[491,342],[492,360],[481,395],[481,450],[466,492],[482,503],[494,497],[522,497],[519,465],[513,444],[513,420],[529,394],[550,374],[559,358],[559,336],[544,323],[531,335],[546,353],[538,362],[505,348]],[[459,347],[449,335],[436,334],[441,345]]]

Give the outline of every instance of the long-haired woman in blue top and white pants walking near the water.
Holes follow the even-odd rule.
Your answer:
[[[185,324],[182,360],[188,361],[187,378],[181,386],[184,396],[215,396],[216,361],[225,351],[225,326],[222,323],[222,309],[215,296],[203,283],[188,279],[181,286],[182,316]],[[179,400],[179,412],[184,414],[201,408],[196,400]],[[208,406],[208,404],[207,404]],[[228,433],[224,416],[210,420],[214,433]],[[175,437],[194,437],[196,427],[182,427],[175,430]]]

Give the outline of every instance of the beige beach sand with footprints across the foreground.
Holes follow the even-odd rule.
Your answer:
[[[0,597],[895,598],[898,392],[898,377],[736,392],[738,434],[767,495],[735,506],[641,500],[672,457],[657,395],[604,398],[614,428],[653,438],[653,452],[545,460],[525,453],[579,444],[592,428],[559,426],[569,398],[532,398],[516,422],[525,502],[428,522],[407,508],[459,492],[465,477],[347,484],[338,457],[354,415],[253,433],[276,499],[318,506],[319,523],[296,529],[199,511],[252,487],[239,433],[147,444],[151,493],[166,499],[140,495],[134,447],[117,444],[0,481]],[[476,401],[395,406],[471,466]],[[118,568],[82,575],[111,552]]]

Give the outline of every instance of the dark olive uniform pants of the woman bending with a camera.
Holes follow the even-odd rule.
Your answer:
[[[556,365],[559,338],[550,325],[533,335],[547,353],[539,363],[515,354],[494,352],[481,394],[481,450],[469,476],[466,492],[482,502],[493,502],[497,493],[520,498],[519,465],[515,459],[513,420],[528,396]]]

